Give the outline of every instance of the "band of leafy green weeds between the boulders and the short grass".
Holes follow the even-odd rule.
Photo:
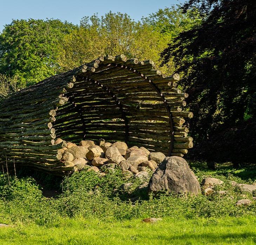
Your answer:
[[[194,171],[200,181],[211,176],[221,179],[224,184],[216,186],[216,192],[209,196],[161,193],[155,197],[145,195],[145,188],[143,191],[138,188],[143,181],[127,180],[120,170],[114,170],[105,177],[99,177],[95,172],[80,172],[60,181],[63,192],[57,198],[46,198],[31,177],[9,177],[8,181],[6,176],[0,175],[0,222],[58,226],[60,218],[71,217],[114,221],[146,217],[188,219],[256,215],[255,202],[242,207],[235,205],[240,199],[252,199],[252,194],[232,186],[230,180],[245,181],[225,171],[222,174],[220,171]],[[125,189],[123,184],[127,182],[130,185]],[[227,193],[221,195],[218,190]]]

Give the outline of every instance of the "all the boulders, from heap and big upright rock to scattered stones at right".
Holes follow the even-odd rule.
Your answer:
[[[56,139],[54,144],[61,143]],[[130,177],[139,178],[141,186],[138,190],[147,190],[151,193],[168,191],[175,194],[191,194],[209,196],[218,194],[228,195],[227,190],[217,190],[216,186],[223,185],[223,181],[207,177],[201,184],[189,168],[185,159],[178,156],[166,157],[161,152],[149,152],[145,147],[133,146],[128,148],[125,142],[117,141],[113,144],[100,139],[96,145],[92,140],[82,140],[77,146],[67,142],[66,147],[58,151],[57,158],[73,171],[95,171],[101,176],[113,171],[115,168],[122,170],[127,180]],[[238,184],[234,181],[231,184],[241,191],[256,193],[256,185]],[[129,193],[133,183],[124,183],[123,189]],[[255,201],[246,199],[238,200],[236,205],[248,205]]]

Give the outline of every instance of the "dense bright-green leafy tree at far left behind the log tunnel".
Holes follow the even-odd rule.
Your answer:
[[[13,20],[0,34],[0,73],[17,76],[21,86],[55,75],[60,43],[73,28],[60,20]]]

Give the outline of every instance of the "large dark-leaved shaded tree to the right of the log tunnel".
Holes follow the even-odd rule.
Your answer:
[[[197,153],[215,159],[224,154],[223,161],[252,160],[251,151],[256,150],[256,2],[189,0],[182,7],[186,13],[195,8],[202,22],[171,40],[161,54],[162,64],[173,59],[175,69],[183,74],[181,85],[190,95],[195,115],[190,128],[199,144]],[[241,145],[242,135],[247,138]]]

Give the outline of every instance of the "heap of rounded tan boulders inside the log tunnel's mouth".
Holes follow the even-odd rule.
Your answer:
[[[54,144],[62,140],[56,139]],[[113,144],[100,139],[96,145],[92,140],[82,140],[77,146],[67,142],[67,147],[58,151],[57,158],[74,171],[87,169],[105,175],[109,170],[120,168],[129,176],[147,178],[166,156],[161,152],[149,152],[145,147],[133,146],[117,141]]]

